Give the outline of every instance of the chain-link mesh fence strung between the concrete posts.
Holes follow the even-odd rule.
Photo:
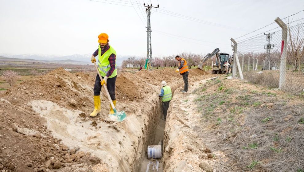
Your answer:
[[[304,20],[300,19],[286,24],[285,42],[282,41],[283,31],[280,26],[270,30],[271,32],[237,41],[237,54],[244,79],[268,88],[279,88],[281,72],[281,81],[284,78],[285,82],[280,87],[283,90],[304,95],[303,22]],[[283,60],[284,64],[281,65],[283,46],[286,48],[286,62]],[[285,66],[286,75],[284,74]]]

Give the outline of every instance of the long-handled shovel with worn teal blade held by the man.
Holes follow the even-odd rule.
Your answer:
[[[96,65],[95,62],[94,62],[94,65],[95,65],[95,68],[96,68],[96,70],[97,70],[97,73],[98,73],[98,75],[99,75],[100,80],[102,80],[102,77],[101,77],[101,75],[100,75],[100,73],[99,73],[99,70],[98,70],[97,65]],[[101,82],[102,82],[102,81],[101,81]],[[114,104],[113,104],[113,101],[112,101],[112,99],[111,99],[111,97],[110,97],[110,94],[109,94],[109,92],[108,92],[107,84],[103,84],[103,87],[104,87],[104,90],[105,90],[106,93],[107,93],[108,99],[109,99],[110,104],[111,104],[111,106],[112,106],[112,108],[113,108],[113,111],[114,111],[114,114],[109,114],[109,118],[110,118],[112,121],[122,122],[124,119],[127,118],[126,112],[125,112],[125,111],[119,111],[119,112],[116,111],[116,108],[115,108],[115,106],[114,106]]]

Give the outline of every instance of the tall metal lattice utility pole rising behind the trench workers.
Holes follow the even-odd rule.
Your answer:
[[[152,70],[152,67],[153,67],[153,64],[152,64],[152,43],[151,43],[151,22],[150,22],[150,16],[151,16],[151,9],[152,8],[158,8],[159,5],[157,6],[152,6],[148,4],[148,6],[146,6],[146,4],[144,3],[144,6],[147,7],[146,8],[146,13],[147,13],[147,17],[148,17],[148,20],[147,20],[147,33],[148,33],[148,38],[147,38],[147,69],[149,69],[149,67],[151,68]]]

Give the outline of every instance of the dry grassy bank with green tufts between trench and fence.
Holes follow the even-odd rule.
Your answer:
[[[284,96],[226,81],[213,81],[196,90],[197,108],[202,114],[196,129],[213,151],[223,151],[227,157],[227,161],[216,163],[216,169],[269,172],[304,169],[304,120],[301,123],[304,101],[297,97],[287,100],[283,93]]]

